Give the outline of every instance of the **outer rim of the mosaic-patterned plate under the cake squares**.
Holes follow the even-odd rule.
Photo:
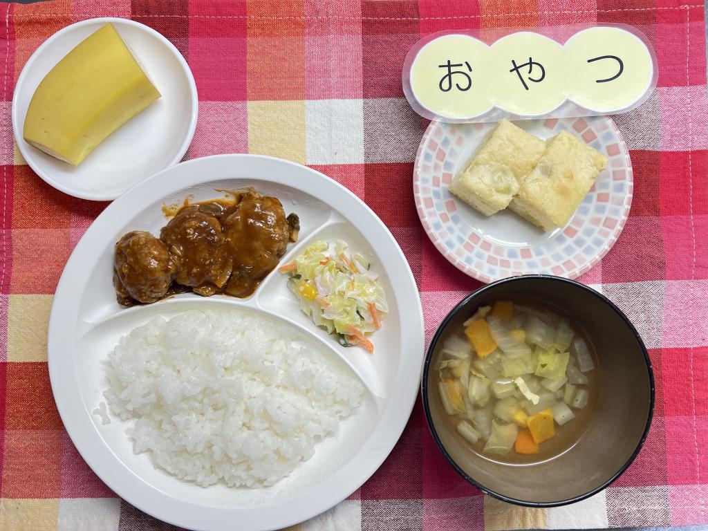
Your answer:
[[[548,274],[548,275],[557,275],[561,276],[564,278],[569,278],[573,280],[574,278],[578,278],[581,275],[584,275],[587,273],[590,269],[595,267],[604,257],[605,255],[612,249],[613,246],[615,246],[615,243],[617,242],[617,239],[619,238],[619,235],[622,233],[622,230],[624,229],[624,225],[627,223],[627,219],[629,219],[629,210],[632,207],[632,198],[634,197],[634,172],[632,170],[632,159],[629,156],[629,148],[627,147],[626,142],[624,141],[624,137],[622,137],[622,132],[619,130],[619,127],[617,127],[617,124],[615,124],[615,121],[612,120],[609,116],[590,116],[590,117],[571,117],[571,118],[535,118],[534,121],[547,121],[547,120],[555,120],[555,121],[560,121],[560,120],[606,120],[608,126],[612,129],[613,132],[615,132],[615,135],[617,135],[617,144],[619,144],[619,151],[620,154],[622,154],[627,161],[627,183],[628,183],[628,188],[627,188],[627,193],[625,195],[625,201],[624,201],[624,207],[622,210],[622,214],[620,215],[617,225],[615,226],[614,229],[612,229],[612,234],[610,234],[609,239],[607,240],[605,246],[603,246],[602,249],[598,251],[598,253],[595,254],[590,260],[586,261],[586,263],[583,263],[580,267],[574,268],[570,272],[561,272],[561,273],[544,273],[539,270],[525,270],[522,271],[518,274],[520,275],[527,275],[527,274]],[[430,224],[428,223],[428,216],[426,215],[425,208],[423,207],[423,197],[421,194],[420,190],[420,181],[421,181],[421,157],[423,152],[426,149],[426,144],[428,143],[430,137],[433,135],[433,132],[438,128],[438,127],[446,127],[450,125],[455,125],[457,127],[459,126],[464,126],[464,125],[472,125],[472,124],[452,124],[452,123],[447,123],[447,122],[442,122],[442,120],[431,120],[430,124],[428,125],[428,128],[426,129],[426,132],[423,133],[423,137],[421,138],[420,144],[418,144],[418,150],[416,152],[416,160],[413,165],[413,197],[416,202],[416,212],[418,212],[418,218],[421,220],[421,225],[423,225],[423,230],[426,232],[428,235],[428,238],[432,242],[433,246],[435,246],[435,249],[438,249],[440,254],[445,257],[445,259],[450,262],[452,265],[455,265],[455,268],[459,269],[464,273],[465,275],[468,275],[469,277],[475,278],[476,280],[479,280],[480,282],[484,282],[485,284],[489,284],[490,282],[494,282],[496,280],[501,280],[502,278],[508,278],[511,276],[516,276],[517,273],[513,273],[511,268],[507,270],[506,275],[497,275],[497,276],[489,276],[486,275],[485,273],[482,273],[480,270],[477,270],[471,265],[467,265],[464,263],[462,260],[457,258],[454,253],[450,249],[445,246],[444,242],[440,241],[440,238],[438,238],[438,235],[435,234],[433,231],[433,228],[430,227]],[[566,226],[567,227],[567,226]],[[479,232],[476,231],[477,234]],[[489,253],[488,253],[489,254]]]

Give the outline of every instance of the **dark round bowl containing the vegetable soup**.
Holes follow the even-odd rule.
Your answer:
[[[528,375],[535,386],[538,386],[538,382],[541,381],[542,385],[549,385],[553,389],[553,392],[549,392],[544,387],[536,387],[539,396],[543,395],[542,401],[539,402],[540,406],[547,403],[544,400],[554,401],[553,409],[546,409],[547,413],[544,414],[548,418],[551,412],[553,413],[554,420],[550,422],[555,426],[554,435],[537,445],[542,448],[537,455],[524,455],[525,447],[516,446],[521,438],[518,433],[524,430],[530,430],[526,435],[532,447],[534,442],[539,442],[535,441],[539,432],[531,430],[528,423],[528,419],[535,413],[529,405],[532,399],[522,392],[518,384],[513,388],[514,396],[508,400],[512,404],[511,407],[519,408],[514,411],[521,418],[514,417],[513,421],[507,418],[508,423],[504,423],[500,415],[495,423],[487,422],[487,426],[496,425],[497,428],[506,426],[508,430],[516,433],[512,435],[512,438],[516,437],[515,445],[506,455],[490,455],[484,451],[485,438],[484,435],[480,435],[484,433],[484,429],[480,428],[484,422],[479,421],[476,414],[479,413],[479,409],[484,409],[485,404],[480,405],[481,400],[472,402],[472,399],[476,399],[479,395],[472,394],[469,390],[471,385],[468,384],[466,389],[469,390],[469,394],[465,393],[466,396],[462,396],[464,405],[459,406],[462,411],[455,409],[451,412],[450,401],[447,400],[443,404],[441,398],[442,394],[445,394],[443,390],[445,385],[458,382],[450,379],[450,376],[443,375],[450,374],[447,372],[450,370],[450,365],[442,363],[450,359],[450,348],[444,348],[443,345],[453,335],[457,335],[457,339],[453,338],[447,343],[448,346],[457,341],[457,346],[461,346],[459,350],[464,351],[465,345],[469,345],[469,354],[458,352],[454,362],[459,367],[458,360],[462,358],[464,367],[462,370],[467,371],[469,367],[467,377],[459,379],[458,389],[465,389],[462,382],[467,382],[469,379],[471,383],[474,378],[480,379],[490,386],[490,389],[503,389],[503,387],[494,388],[490,385],[490,382],[494,383],[493,373],[487,377],[479,372],[479,360],[486,359],[479,358],[479,352],[484,350],[472,348],[471,339],[467,339],[464,325],[468,320],[469,325],[472,321],[470,318],[478,309],[492,306],[498,301],[513,302],[513,308],[517,313],[513,314],[513,317],[505,316],[500,305],[499,312],[495,308],[493,312],[487,314],[484,326],[490,323],[487,329],[491,331],[494,322],[497,324],[501,322],[500,316],[503,319],[511,319],[508,322],[515,324],[508,326],[515,328],[513,330],[515,341],[526,344],[532,351],[532,358],[530,358],[532,361],[529,363],[532,362],[535,367],[540,367],[536,364],[540,363],[539,352],[541,351],[538,350],[538,343],[530,341],[532,318],[546,319],[549,328],[559,327],[560,321],[564,321],[569,323],[575,333],[573,338],[576,340],[573,341],[572,346],[558,347],[569,351],[569,358],[566,359],[570,360],[570,365],[566,366],[568,367],[566,369],[561,369],[566,371],[563,373],[566,378],[564,387],[553,389],[554,385],[549,379],[539,377],[539,371],[543,372],[543,370],[536,369],[536,375]],[[508,311],[508,303],[506,309]],[[517,315],[520,317],[517,318]],[[554,319],[556,319],[555,323]],[[524,323],[527,325],[523,325]],[[522,332],[520,330],[523,326],[528,326],[528,329]],[[498,344],[496,338],[498,336],[489,348]],[[583,367],[583,362],[580,361],[581,355],[576,348],[576,341],[580,338],[585,341],[593,359],[593,362],[590,362],[591,366],[594,365],[592,370],[588,370],[587,366]],[[555,341],[561,340],[556,338]],[[562,343],[564,341],[554,344]],[[573,349],[576,350],[573,352]],[[501,357],[507,352],[493,350],[489,355]],[[552,353],[551,355],[565,355],[559,350],[553,350],[553,347],[550,347],[547,352]],[[507,370],[506,365],[503,367],[503,371],[512,372]],[[568,371],[576,370],[575,367],[586,371],[582,373],[584,377],[576,372],[581,382],[587,379],[586,385],[580,385],[581,382],[578,382],[577,378],[571,377]],[[459,376],[460,372],[456,374]],[[502,374],[500,378],[508,375]],[[571,380],[578,385],[567,385],[572,383]],[[561,382],[562,378],[559,377],[556,381]],[[503,382],[500,381],[499,384],[503,385]],[[566,389],[567,387],[569,389]],[[588,393],[583,396],[583,399],[588,397],[587,404],[584,404],[585,400],[583,400],[584,407],[582,405],[576,407],[578,403],[573,403],[573,399],[569,396],[577,396],[577,389],[581,388],[586,389]],[[428,426],[440,451],[452,467],[469,483],[492,496],[510,503],[532,507],[561,506],[580,501],[605,489],[615,481],[639,453],[649,432],[654,406],[654,380],[649,355],[639,333],[627,316],[607,297],[590,287],[573,280],[547,275],[526,275],[499,280],[481,287],[459,302],[455,309],[447,314],[430,342],[423,367],[421,389]],[[570,394],[564,394],[564,389]],[[573,392],[576,394],[573,395]],[[501,400],[501,392],[499,395],[496,400]],[[491,393],[491,399],[495,399],[495,396],[496,391]],[[456,398],[455,403],[462,404],[459,392]],[[486,405],[488,416],[491,404],[492,402],[489,402],[489,405]],[[520,411],[522,404],[526,404],[526,412]],[[558,413],[561,416],[556,416],[556,408],[561,412]],[[497,415],[496,409],[494,411],[492,416]],[[569,411],[572,411],[574,416]],[[570,416],[571,421],[566,421],[563,414],[566,418]],[[559,426],[559,418],[563,426]],[[463,436],[464,429],[460,429],[463,427],[457,426],[458,423],[463,422],[467,423],[464,426],[467,428],[467,435],[469,433],[472,435]],[[514,423],[518,427],[510,426]],[[535,424],[534,428],[537,426],[539,425]],[[470,427],[475,429],[470,430]],[[489,436],[489,428],[486,433]],[[531,434],[532,438],[530,438]],[[477,437],[479,440],[473,443],[472,439]],[[512,439],[507,438],[507,440]],[[518,450],[518,454],[517,448],[522,448]]]

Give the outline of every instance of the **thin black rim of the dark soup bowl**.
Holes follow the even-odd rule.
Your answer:
[[[437,345],[438,341],[440,340],[440,336],[442,335],[442,331],[446,328],[447,324],[450,322],[453,316],[457,314],[459,309],[464,307],[470,300],[474,299],[475,297],[479,297],[482,293],[486,292],[487,290],[492,290],[494,287],[497,285],[501,284],[506,284],[509,282],[516,282],[518,280],[552,280],[554,282],[562,282],[564,284],[570,284],[573,285],[573,287],[578,287],[581,290],[584,290],[588,292],[590,295],[593,295],[594,297],[597,297],[600,299],[602,302],[605,302],[610,309],[614,310],[614,312],[622,318],[625,324],[627,324],[627,327],[629,328],[629,331],[631,331],[634,334],[634,338],[636,339],[637,343],[639,343],[639,348],[641,350],[641,353],[644,355],[644,362],[646,363],[646,372],[647,376],[649,377],[649,412],[646,417],[646,426],[644,426],[644,432],[641,434],[641,438],[639,438],[639,442],[636,445],[636,448],[634,448],[634,451],[632,452],[632,455],[629,456],[627,459],[627,462],[625,462],[622,467],[619,468],[615,474],[612,474],[607,481],[605,481],[603,484],[600,486],[595,487],[595,489],[591,489],[590,491],[583,493],[579,496],[574,496],[573,498],[568,498],[566,500],[560,500],[560,501],[525,501],[525,500],[519,500],[517,498],[512,498],[510,496],[505,496],[502,493],[498,493],[496,491],[493,491],[493,489],[490,489],[487,486],[484,486],[481,484],[479,481],[476,481],[475,479],[472,478],[472,476],[469,476],[467,472],[464,472],[462,468],[460,468],[455,462],[455,459],[452,458],[452,456],[445,450],[445,447],[442,445],[442,442],[440,441],[440,438],[438,437],[438,432],[435,430],[435,426],[433,425],[433,419],[430,416],[430,404],[428,402],[428,373],[430,372],[430,360],[433,358],[433,351],[435,350],[435,346]],[[480,287],[478,290],[474,290],[472,293],[464,297],[460,302],[458,302],[454,308],[448,312],[448,314],[445,316],[444,319],[442,319],[442,322],[438,326],[438,329],[435,330],[435,334],[433,335],[433,338],[430,340],[430,345],[428,346],[428,350],[426,350],[426,360],[423,363],[423,375],[421,377],[421,399],[423,400],[423,411],[425,411],[426,414],[426,422],[428,423],[428,429],[430,430],[430,433],[433,435],[433,439],[435,440],[435,444],[438,445],[438,449],[440,452],[442,452],[442,455],[445,456],[445,459],[447,459],[447,462],[452,465],[452,468],[454,468],[459,475],[461,475],[469,484],[472,484],[473,486],[476,486],[477,489],[480,489],[481,491],[486,492],[490,496],[493,496],[494,498],[498,498],[501,501],[506,501],[508,503],[514,503],[515,505],[518,506],[525,506],[525,507],[534,507],[534,508],[544,508],[544,507],[559,507],[559,506],[566,506],[571,503],[576,503],[578,501],[584,500],[586,498],[589,498],[590,496],[593,496],[594,494],[602,491],[603,489],[606,489],[607,486],[610,486],[619,476],[621,476],[627,468],[629,468],[629,465],[634,462],[634,459],[636,458],[637,455],[639,455],[639,451],[641,450],[641,447],[644,445],[644,441],[646,440],[647,435],[649,435],[649,428],[651,428],[651,421],[653,419],[653,413],[654,413],[654,402],[655,402],[655,384],[654,384],[654,375],[653,375],[653,367],[651,365],[651,359],[649,358],[649,353],[646,350],[646,346],[644,346],[644,341],[642,341],[641,336],[639,336],[639,332],[636,331],[636,328],[632,324],[632,321],[629,321],[629,318],[622,312],[617,305],[612,302],[610,299],[605,297],[602,293],[593,290],[593,288],[582,284],[581,282],[577,282],[576,280],[571,280],[569,278],[564,278],[564,277],[556,277],[554,275],[520,275],[516,277],[509,277],[509,278],[503,278],[501,280],[497,280],[496,282],[491,282],[490,284],[484,285]]]

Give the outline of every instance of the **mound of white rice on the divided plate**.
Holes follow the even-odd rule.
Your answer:
[[[272,485],[362,401],[364,387],[299,331],[239,309],[152,319],[108,361],[110,411],[136,453],[208,486]]]

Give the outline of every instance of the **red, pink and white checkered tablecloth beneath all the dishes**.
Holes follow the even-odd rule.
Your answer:
[[[656,370],[656,415],[632,467],[574,506],[506,505],[440,455],[418,403],[379,471],[317,530],[502,530],[708,523],[708,105],[697,0],[52,0],[0,4],[0,530],[171,529],[86,466],[47,375],[47,318],[69,253],[105,204],[50,188],[13,148],[13,87],[52,33],[122,16],[166,35],[188,59],[200,110],[188,152],[270,154],[346,185],[383,219],[421,290],[430,338],[479,287],[423,233],[411,190],[426,120],[401,92],[401,64],[438,30],[628,23],[659,61],[658,86],[617,116],[634,165],[627,226],[580,280],[630,316]],[[238,524],[234,523],[234,529]]]

